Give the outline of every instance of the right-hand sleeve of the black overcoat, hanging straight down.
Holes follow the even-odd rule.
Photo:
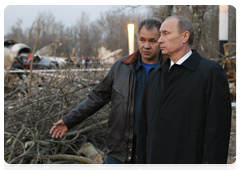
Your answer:
[[[202,170],[226,170],[231,129],[231,99],[224,70],[216,64],[206,79],[206,126]]]

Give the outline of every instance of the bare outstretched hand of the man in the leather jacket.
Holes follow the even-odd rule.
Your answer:
[[[65,125],[64,121],[60,119],[57,123],[53,123],[53,127],[50,130],[50,134],[52,134],[52,138],[60,138],[68,131],[67,126]]]

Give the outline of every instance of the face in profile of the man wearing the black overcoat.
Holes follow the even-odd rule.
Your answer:
[[[178,31],[178,19],[170,18],[164,21],[160,27],[160,48],[162,54],[173,56],[183,48],[182,34]]]

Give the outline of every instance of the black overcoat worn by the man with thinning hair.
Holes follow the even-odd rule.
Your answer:
[[[222,67],[196,50],[182,65],[170,59],[146,85],[136,167],[226,170],[231,127],[229,85]]]

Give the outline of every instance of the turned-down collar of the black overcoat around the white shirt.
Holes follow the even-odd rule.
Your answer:
[[[187,69],[194,71],[199,63],[199,61],[202,59],[200,54],[197,52],[197,50],[192,49],[192,55],[184,61],[181,65],[186,67]],[[164,63],[162,64],[162,69],[169,69],[171,60],[167,58]],[[161,68],[161,67],[160,67]]]

